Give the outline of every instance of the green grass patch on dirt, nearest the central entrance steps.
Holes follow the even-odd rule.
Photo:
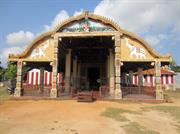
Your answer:
[[[122,121],[122,122],[129,121],[125,116],[122,115],[123,113],[137,114],[138,112],[110,107],[110,108],[107,108],[103,113],[101,113],[101,115],[115,119],[117,121]]]

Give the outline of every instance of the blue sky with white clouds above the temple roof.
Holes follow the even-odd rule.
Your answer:
[[[109,17],[180,65],[180,0],[0,0],[0,61],[83,11]]]

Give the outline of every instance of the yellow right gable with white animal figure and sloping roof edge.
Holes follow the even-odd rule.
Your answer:
[[[124,36],[121,40],[122,61],[154,61],[159,59],[170,62],[172,60],[170,55],[159,55],[149,44],[137,38]]]

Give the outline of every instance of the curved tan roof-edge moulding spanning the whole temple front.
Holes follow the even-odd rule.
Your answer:
[[[69,19],[65,20],[64,22],[58,24],[52,31],[49,31],[49,32],[46,32],[46,33],[43,33],[41,34],[39,37],[37,37],[36,39],[34,39],[32,41],[32,43],[30,43],[28,45],[28,47],[25,49],[25,51],[21,54],[18,54],[18,55],[9,55],[9,59],[19,59],[19,58],[23,58],[25,57],[30,51],[31,49],[34,48],[34,46],[36,45],[36,43],[38,41],[41,41],[45,38],[49,38],[53,35],[55,35],[56,33],[58,32],[61,32],[64,28],[72,25],[73,23],[77,22],[77,21],[80,21],[84,18],[89,18],[89,19],[92,19],[96,22],[99,22],[99,23],[103,23],[104,25],[107,25],[109,27],[112,27],[116,32],[119,32],[119,34],[121,36],[124,36],[124,37],[128,37],[128,38],[132,38],[132,39],[135,39],[137,40],[140,44],[143,45],[144,48],[146,48],[148,50],[148,52],[154,57],[154,58],[163,58],[163,59],[167,59],[167,61],[171,61],[172,58],[171,56],[168,54],[168,55],[160,55],[158,54],[151,46],[149,43],[147,43],[144,39],[142,39],[141,37],[139,37],[138,35],[134,34],[134,33],[131,33],[129,31],[126,31],[124,29],[122,29],[116,22],[112,21],[111,19],[109,18],[106,18],[104,16],[100,16],[100,15],[95,15],[93,13],[89,13],[89,12],[83,12],[82,14],[78,15],[78,16],[73,16],[73,17],[70,17]]]

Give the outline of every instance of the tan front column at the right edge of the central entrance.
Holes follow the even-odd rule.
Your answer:
[[[121,49],[120,49],[120,35],[115,35],[115,99],[122,99],[121,92]]]

